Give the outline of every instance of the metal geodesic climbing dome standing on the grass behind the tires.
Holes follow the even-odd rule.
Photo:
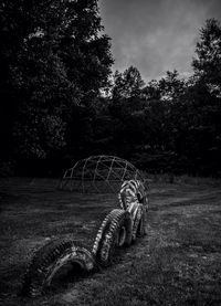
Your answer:
[[[60,189],[88,193],[117,192],[125,180],[146,179],[129,161],[116,156],[98,155],[78,160],[64,172]]]

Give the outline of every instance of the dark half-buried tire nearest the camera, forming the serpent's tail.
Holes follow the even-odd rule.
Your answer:
[[[95,266],[94,256],[85,247],[70,240],[55,240],[34,254],[22,284],[23,296],[38,296],[50,287],[55,274],[67,264],[77,264],[90,272]]]

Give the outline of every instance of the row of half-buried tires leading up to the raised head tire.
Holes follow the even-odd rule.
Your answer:
[[[54,240],[33,255],[22,284],[23,296],[38,296],[51,285],[62,267],[71,264],[92,272],[112,263],[117,247],[129,246],[145,234],[145,207],[135,202],[130,211],[112,210],[97,232],[93,249],[88,251],[74,240]]]

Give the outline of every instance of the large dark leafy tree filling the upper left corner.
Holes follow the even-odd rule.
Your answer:
[[[13,140],[6,155],[45,158],[66,144],[77,105],[107,85],[109,38],[97,0],[3,0],[0,11],[1,134]]]

